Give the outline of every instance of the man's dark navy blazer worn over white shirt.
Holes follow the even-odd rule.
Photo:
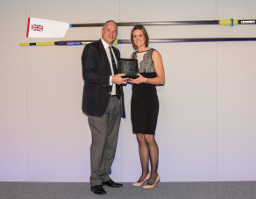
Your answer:
[[[119,50],[112,46],[117,60]],[[110,61],[104,49],[103,42],[85,46],[82,53],[82,77],[84,80],[82,95],[82,111],[90,116],[102,117],[110,101],[112,86],[110,86]],[[121,117],[125,117],[124,93],[121,96]]]

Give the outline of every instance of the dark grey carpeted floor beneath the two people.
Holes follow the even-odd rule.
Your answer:
[[[255,199],[256,181],[160,182],[153,189],[104,186],[106,195],[95,195],[88,182],[0,182],[1,199],[70,198],[170,198],[170,199]]]

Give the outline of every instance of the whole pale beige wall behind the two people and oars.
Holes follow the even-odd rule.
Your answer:
[[[84,46],[18,46],[21,42],[99,39],[100,27],[71,28],[64,39],[26,39],[26,20],[68,23],[256,18],[249,0],[10,0],[0,3],[0,181],[89,181],[90,131],[82,114]],[[120,27],[129,39],[132,27]],[[150,38],[255,37],[255,25],[148,26]],[[131,45],[117,45],[122,57]],[[256,180],[256,43],[152,44],[163,57],[158,88],[161,181]],[[137,181],[131,86],[111,176]]]

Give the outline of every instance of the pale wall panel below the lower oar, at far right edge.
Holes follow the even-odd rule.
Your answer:
[[[256,177],[256,68],[251,59],[255,50],[255,43],[250,42],[218,46],[219,180],[253,181]]]

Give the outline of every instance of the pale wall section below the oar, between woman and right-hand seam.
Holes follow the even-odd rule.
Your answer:
[[[167,74],[157,137],[162,180],[216,180],[216,44],[161,47]]]

